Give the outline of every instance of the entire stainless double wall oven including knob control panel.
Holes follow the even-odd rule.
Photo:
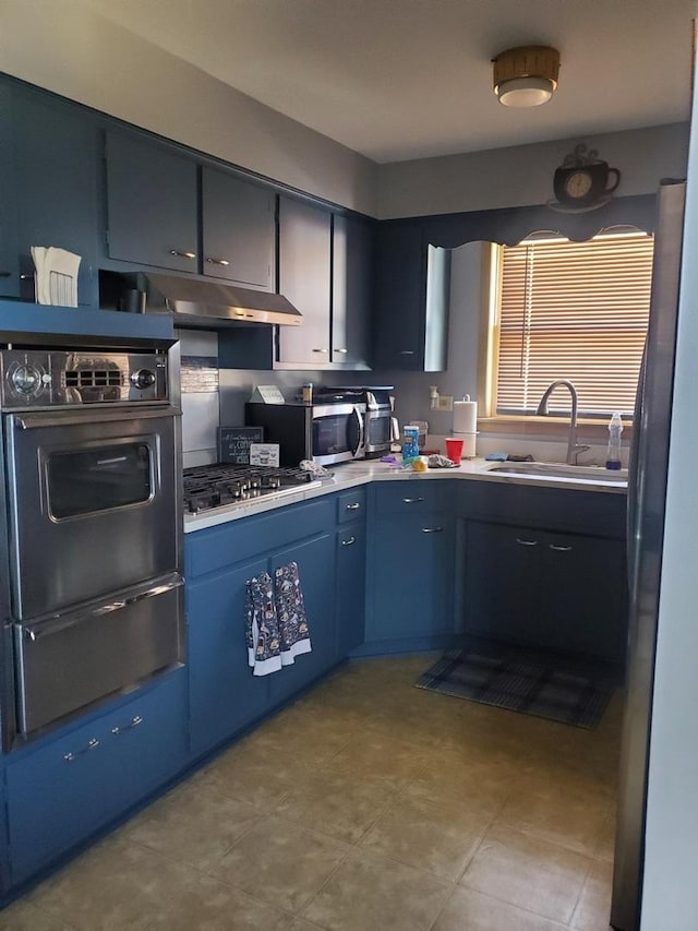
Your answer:
[[[168,347],[0,350],[5,747],[181,664]]]

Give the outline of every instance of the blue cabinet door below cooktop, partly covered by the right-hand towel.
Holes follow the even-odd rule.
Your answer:
[[[276,552],[272,558],[272,572],[289,562],[298,563],[312,650],[297,656],[291,666],[269,676],[273,703],[298,692],[329,669],[336,659],[334,533]]]

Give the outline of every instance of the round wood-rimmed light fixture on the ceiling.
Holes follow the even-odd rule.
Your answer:
[[[538,107],[557,87],[559,52],[542,45],[501,51],[492,59],[494,93],[505,107]]]

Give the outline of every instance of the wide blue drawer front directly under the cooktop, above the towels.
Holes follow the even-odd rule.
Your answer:
[[[186,577],[217,572],[237,562],[268,554],[293,540],[320,534],[334,525],[334,508],[333,494],[189,534],[185,538]]]

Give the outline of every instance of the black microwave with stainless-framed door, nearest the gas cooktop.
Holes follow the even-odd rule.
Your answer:
[[[365,404],[262,404],[248,402],[245,425],[262,427],[265,443],[279,444],[279,465],[301,459],[335,465],[365,458]]]

